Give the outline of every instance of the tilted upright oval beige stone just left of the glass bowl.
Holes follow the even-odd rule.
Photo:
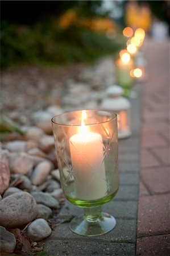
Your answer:
[[[45,181],[50,171],[51,171],[50,162],[44,161],[42,163],[39,163],[32,174],[32,177],[31,177],[32,183],[34,185],[42,184]]]

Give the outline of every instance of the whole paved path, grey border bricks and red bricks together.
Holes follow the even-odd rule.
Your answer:
[[[67,202],[51,236],[42,242],[50,256],[169,255],[168,43],[148,40],[144,51],[148,77],[134,86],[132,135],[119,141],[120,188],[114,199],[102,207],[113,214],[117,225],[103,236],[78,236],[69,229],[69,222],[82,209]]]

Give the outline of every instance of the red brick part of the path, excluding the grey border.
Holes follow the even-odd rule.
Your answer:
[[[169,42],[146,42],[136,255],[169,255]]]

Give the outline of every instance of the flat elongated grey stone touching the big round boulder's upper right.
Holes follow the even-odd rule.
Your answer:
[[[54,199],[51,195],[44,192],[32,192],[32,196],[34,196],[36,203],[44,204],[49,208],[59,208],[59,202]]]

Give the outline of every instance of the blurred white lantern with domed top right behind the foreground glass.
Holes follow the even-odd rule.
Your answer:
[[[122,97],[124,90],[118,85],[111,85],[106,89],[106,98],[101,103],[101,109],[112,110],[118,115],[118,138],[131,135],[131,104]]]

